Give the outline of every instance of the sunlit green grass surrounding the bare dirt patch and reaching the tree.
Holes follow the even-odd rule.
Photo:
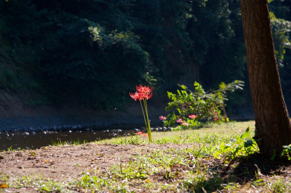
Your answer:
[[[129,157],[130,161],[120,157],[119,163],[109,165],[105,171],[84,171],[77,179],[68,176],[62,182],[41,174],[22,179],[11,175],[12,181],[2,174],[1,181],[9,187],[25,185],[39,192],[288,192],[290,176],[280,172],[290,168],[276,167],[277,175],[272,174],[273,168],[269,167],[274,163],[262,165],[256,144],[244,146],[251,141],[253,129],[253,121],[231,122],[195,130],[155,132],[152,142],[137,135],[103,140],[96,143],[186,146],[150,152],[141,149]]]

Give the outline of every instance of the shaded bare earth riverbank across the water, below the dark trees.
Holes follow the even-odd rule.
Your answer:
[[[126,108],[111,110],[94,110],[84,106],[37,105],[31,106],[17,93],[0,89],[0,132],[1,131],[56,131],[74,128],[96,128],[104,126],[144,126],[139,103],[133,101]],[[148,113],[151,126],[162,126],[160,115],[165,111],[167,101],[148,101]],[[254,119],[251,110],[228,114],[231,120]]]

